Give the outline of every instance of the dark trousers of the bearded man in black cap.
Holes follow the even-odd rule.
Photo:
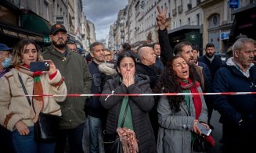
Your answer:
[[[70,153],[83,153],[83,131],[85,123],[74,129],[59,130],[57,141],[56,141],[56,153],[63,153],[65,151],[66,142],[68,140]]]

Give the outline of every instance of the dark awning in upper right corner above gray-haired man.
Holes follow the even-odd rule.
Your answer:
[[[236,36],[245,34],[247,37],[256,39],[256,4],[248,5],[233,14],[235,19],[229,37],[235,41]]]

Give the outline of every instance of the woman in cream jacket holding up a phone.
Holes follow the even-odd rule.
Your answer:
[[[34,141],[34,123],[40,112],[61,116],[59,104],[66,96],[29,97],[31,105],[24,96],[22,84],[29,95],[67,94],[63,77],[52,61],[49,71],[30,70],[31,62],[43,61],[38,45],[23,39],[13,49],[14,67],[0,79],[0,123],[13,132],[13,146],[16,152],[54,152],[54,141]]]

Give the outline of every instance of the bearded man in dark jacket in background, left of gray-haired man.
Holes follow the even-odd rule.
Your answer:
[[[200,56],[199,62],[204,62],[211,71],[211,78],[214,80],[216,71],[222,66],[222,59],[215,55],[215,44],[208,43],[205,47],[205,55]]]

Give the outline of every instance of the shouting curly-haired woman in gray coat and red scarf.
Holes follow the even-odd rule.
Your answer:
[[[158,93],[200,93],[202,89],[194,76],[190,63],[180,56],[171,57],[155,90]],[[163,96],[157,112],[160,125],[158,152],[192,152],[193,133],[201,134],[198,124],[209,129],[203,95]]]

